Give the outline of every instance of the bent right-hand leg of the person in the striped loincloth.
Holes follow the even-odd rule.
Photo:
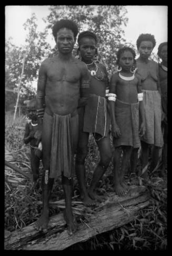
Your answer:
[[[96,136],[96,139],[98,139],[99,136]],[[90,187],[88,189],[88,195],[93,199],[101,199],[99,196],[97,196],[94,193],[94,190],[97,186],[98,181],[102,178],[104,175],[109,162],[112,158],[112,149],[110,147],[110,138],[109,135],[99,141],[96,141],[98,145],[98,149],[100,152],[100,162],[98,163],[98,166],[96,167],[94,173],[93,173],[93,179],[90,184]]]

